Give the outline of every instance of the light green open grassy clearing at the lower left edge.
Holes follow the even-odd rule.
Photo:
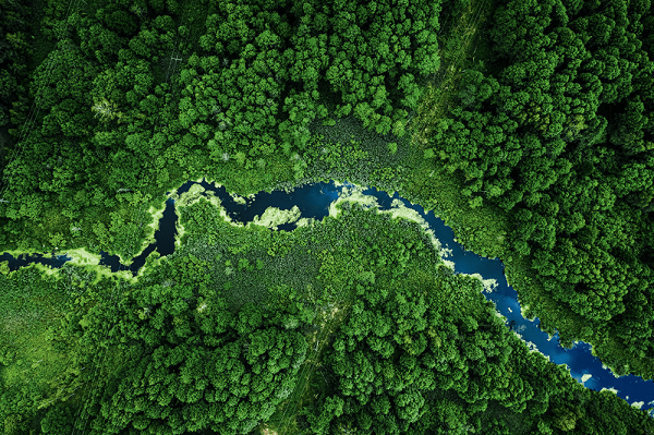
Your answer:
[[[89,358],[106,358],[102,373],[96,373],[93,382],[81,376],[85,351],[73,329],[97,300],[109,298],[117,289],[118,274],[107,279],[106,270],[101,274],[99,269],[66,264],[49,270],[37,265],[0,275],[2,396],[21,400],[17,406],[0,409],[1,420],[8,412],[17,413],[24,422],[38,422],[59,402],[84,408],[88,392],[102,388],[105,379],[116,377],[121,364],[132,358],[116,349],[107,355],[99,352]],[[70,326],[62,327],[64,324]]]

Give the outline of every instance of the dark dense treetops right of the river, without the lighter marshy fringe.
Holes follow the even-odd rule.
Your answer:
[[[544,325],[645,378],[654,376],[653,23],[650,1],[504,2],[486,73],[464,73],[459,106],[431,137],[435,156],[465,176],[472,207],[510,210],[502,259],[536,270],[517,286]],[[536,288],[558,302],[556,316]],[[555,322],[562,313],[573,327]]]

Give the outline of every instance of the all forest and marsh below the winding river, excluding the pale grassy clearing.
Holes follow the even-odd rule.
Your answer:
[[[530,351],[481,281],[443,265],[414,222],[350,203],[292,233],[233,226],[204,198],[181,213],[183,247],[149,257],[129,287],[66,266],[76,298],[57,303],[65,317],[50,329],[66,371],[5,391],[5,431],[14,421],[53,434],[654,430],[645,411]],[[295,264],[311,265],[308,282],[286,273]],[[0,275],[2,294],[37,276]],[[262,283],[266,293],[247,299]],[[3,362],[4,374],[17,363]],[[77,387],[70,400],[61,392]]]

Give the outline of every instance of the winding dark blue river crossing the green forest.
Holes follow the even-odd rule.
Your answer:
[[[484,297],[495,302],[497,312],[506,317],[506,325],[513,330],[530,349],[537,350],[546,355],[549,361],[556,364],[566,364],[572,377],[586,388],[595,390],[610,389],[616,391],[618,397],[640,409],[649,409],[650,415],[654,418],[654,382],[643,380],[639,376],[628,375],[616,377],[608,368],[603,366],[598,358],[591,354],[591,347],[584,342],[576,342],[572,349],[564,349],[559,346],[558,333],[549,337],[538,327],[540,319],[528,321],[521,315],[520,304],[517,292],[508,285],[504,275],[504,265],[498,258],[489,259],[482,257],[471,251],[465,251],[463,246],[457,243],[453,231],[437,218],[433,212],[425,214],[420,205],[409,203],[401,198],[396,192],[393,196],[386,192],[377,191],[375,188],[359,188],[350,183],[337,184],[334,181],[329,183],[308,184],[293,190],[290,193],[284,191],[274,191],[271,193],[259,192],[252,197],[232,197],[223,186],[216,188],[205,180],[199,183],[189,181],[184,183],[175,193],[181,195],[187,192],[193,184],[199,184],[206,191],[214,192],[220,198],[222,207],[227,210],[229,217],[234,221],[246,223],[252,221],[255,216],[262,216],[268,207],[276,207],[282,210],[291,209],[298,206],[302,218],[313,218],[322,220],[329,215],[329,206],[339,198],[355,194],[367,195],[376,201],[379,209],[388,210],[396,207],[407,207],[415,210],[420,218],[428,225],[434,237],[438,239],[444,250],[444,259],[451,262],[455,271],[458,274],[479,274],[485,283]],[[419,219],[420,219],[419,218]],[[118,256],[110,256],[101,252],[100,265],[111,267],[112,271],[119,269],[130,269],[134,275],[145,264],[145,258],[155,250],[162,256],[171,254],[174,251],[175,222],[177,214],[174,212],[174,200],[169,198],[159,220],[159,229],[155,233],[156,242],[150,244],[138,257],[134,259],[131,266],[121,266]],[[426,228],[426,226],[424,226]],[[279,230],[291,231],[295,223],[282,223],[278,226]],[[51,258],[45,258],[43,255],[14,258],[10,254],[0,255],[0,262],[9,261],[10,270],[28,265],[31,263],[41,263],[50,267],[61,267],[66,261],[72,259],[64,255],[52,255]]]

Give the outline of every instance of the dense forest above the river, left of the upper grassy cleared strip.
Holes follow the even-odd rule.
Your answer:
[[[36,122],[3,168],[12,249],[134,254],[134,202],[197,173],[246,191],[300,179],[308,124],[328,107],[401,134],[438,68],[439,2],[48,4],[53,49],[16,121]]]

